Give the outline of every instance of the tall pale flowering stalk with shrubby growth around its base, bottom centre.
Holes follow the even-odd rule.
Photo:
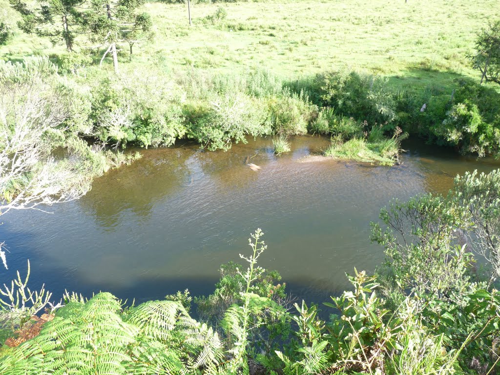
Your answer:
[[[257,266],[259,256],[267,248],[262,235],[257,229],[249,240],[250,255],[240,254],[241,259],[248,262],[248,268],[243,271],[239,264],[226,264],[221,271],[227,273],[217,284],[215,293],[197,301],[201,302],[203,311],[209,312],[220,311],[220,305],[225,305],[221,325],[230,359],[226,365],[229,371],[221,373],[248,373],[249,352],[258,350],[271,357],[278,341],[286,340],[289,334],[289,315],[282,305],[285,285],[274,284],[280,279],[277,272]]]

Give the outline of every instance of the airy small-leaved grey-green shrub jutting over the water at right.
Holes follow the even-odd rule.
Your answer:
[[[421,195],[394,200],[380,210],[385,229],[372,223],[372,241],[385,248],[387,266],[402,290],[446,298],[465,290],[471,254],[456,235],[470,226],[463,207],[450,199]]]

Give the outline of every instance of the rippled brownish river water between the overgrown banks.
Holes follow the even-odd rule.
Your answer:
[[[299,297],[325,300],[348,286],[345,272],[382,261],[369,222],[391,198],[445,192],[457,173],[500,167],[419,143],[405,145],[402,165],[393,167],[297,161],[328,143],[297,137],[281,157],[269,138],[227,152],[190,144],[143,150],[132,165],[97,178],[82,199],[49,207],[52,214],[3,216],[10,269],[0,282],[25,272],[29,258],[30,284],[44,282],[54,298],[64,288],[138,301],[185,288],[206,294],[218,266],[247,253],[260,227],[268,245],[261,265],[278,270]],[[262,170],[250,170],[246,157]]]

